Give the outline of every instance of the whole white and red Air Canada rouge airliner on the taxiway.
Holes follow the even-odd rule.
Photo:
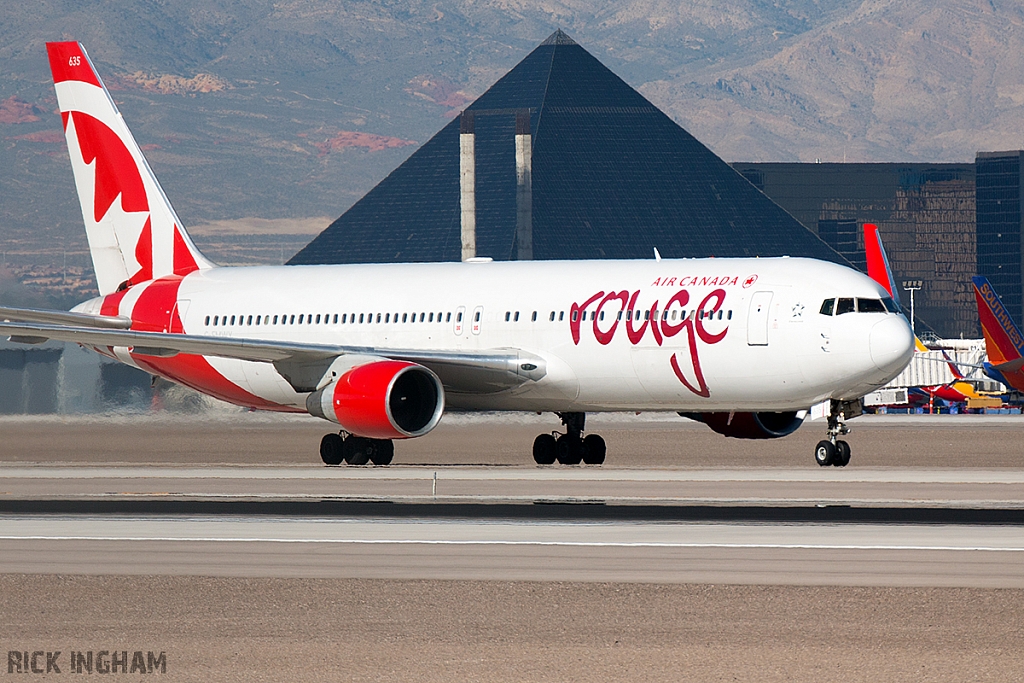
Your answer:
[[[817,405],[815,461],[845,466],[846,415],[913,351],[883,288],[807,258],[216,266],[82,45],[46,48],[99,296],[0,309],[0,333],[331,421],[326,464],[389,464],[395,439],[452,409],[553,413],[564,432],[540,434],[534,459],[579,465],[605,459],[588,412],[672,411],[775,438]]]

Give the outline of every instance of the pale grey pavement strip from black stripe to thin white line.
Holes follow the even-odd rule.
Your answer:
[[[0,541],[17,540],[1024,552],[1013,526],[0,517]]]

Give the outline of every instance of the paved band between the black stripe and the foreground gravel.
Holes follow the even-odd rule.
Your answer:
[[[0,571],[1024,587],[1016,526],[8,517]]]

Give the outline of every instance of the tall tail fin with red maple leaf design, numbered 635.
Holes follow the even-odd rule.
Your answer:
[[[99,294],[212,267],[193,244],[81,43],[47,43]]]

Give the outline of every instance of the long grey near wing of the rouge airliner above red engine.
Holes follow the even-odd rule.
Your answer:
[[[81,314],[56,313],[56,315]],[[18,312],[14,316],[23,315]],[[137,332],[33,322],[0,323],[0,335],[8,336],[13,342],[27,344],[38,344],[54,339],[99,348],[120,346],[128,348],[131,353],[154,357],[166,358],[178,353],[187,353],[270,362],[296,391],[316,389],[335,358],[348,354],[409,360],[422,365],[440,378],[446,391],[454,393],[496,393],[517,387],[527,381],[538,381],[546,374],[546,364],[543,358],[518,349],[484,351],[386,349]]]

